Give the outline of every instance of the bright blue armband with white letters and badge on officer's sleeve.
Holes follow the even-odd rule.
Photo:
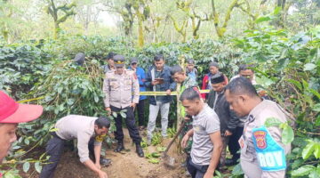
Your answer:
[[[261,170],[285,170],[284,148],[272,138],[265,126],[252,129],[252,141],[257,152]]]

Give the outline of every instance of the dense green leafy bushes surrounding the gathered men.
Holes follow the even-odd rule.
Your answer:
[[[268,123],[283,129],[283,142],[292,142],[294,138],[292,153],[287,157],[288,175],[315,177],[319,171],[320,28],[294,36],[284,30],[246,31],[244,37],[220,42],[150,44],[141,49],[124,38],[101,36],[61,36],[58,41],[44,41],[38,45],[41,49],[34,45],[3,45],[0,49],[0,76],[3,78],[0,89],[18,99],[42,97],[32,102],[45,108],[43,117],[20,125],[19,132],[23,136],[17,149],[41,145],[53,123],[65,115],[106,114],[100,65],[109,52],[123,54],[128,63],[130,57],[138,57],[140,67],[146,70],[152,65],[154,55],[163,53],[170,66],[177,64],[182,55],[195,59],[199,83],[208,72],[210,61],[218,61],[220,70],[228,77],[236,74],[240,63],[256,64],[258,87],[267,91],[292,117],[288,123]],[[71,61],[76,53],[85,53],[84,67]],[[174,126],[175,122],[176,103],[173,102],[170,125]],[[241,176],[239,166],[234,174]]]

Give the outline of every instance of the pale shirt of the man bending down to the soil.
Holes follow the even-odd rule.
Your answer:
[[[56,134],[63,140],[77,139],[77,149],[80,161],[89,159],[88,143],[94,136],[94,121],[98,117],[85,117],[80,115],[69,115],[62,117],[55,125]],[[100,145],[101,142],[94,142]]]

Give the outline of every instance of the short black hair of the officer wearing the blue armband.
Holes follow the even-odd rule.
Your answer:
[[[259,96],[251,81],[246,77],[236,77],[226,86],[226,91],[232,94],[247,94],[251,97]]]

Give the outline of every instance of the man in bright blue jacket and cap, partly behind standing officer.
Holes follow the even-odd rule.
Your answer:
[[[129,69],[132,69],[136,72],[136,75],[138,77],[139,85],[140,85],[140,92],[146,92],[146,86],[144,83],[146,82],[146,73],[144,69],[138,67],[138,59],[132,58],[131,59],[131,67]],[[147,99],[147,96],[141,95],[139,98],[139,103],[137,104],[137,111],[138,111],[138,121],[139,121],[139,130],[143,130],[145,126],[145,115],[144,115],[144,107],[145,107],[145,100]]]

